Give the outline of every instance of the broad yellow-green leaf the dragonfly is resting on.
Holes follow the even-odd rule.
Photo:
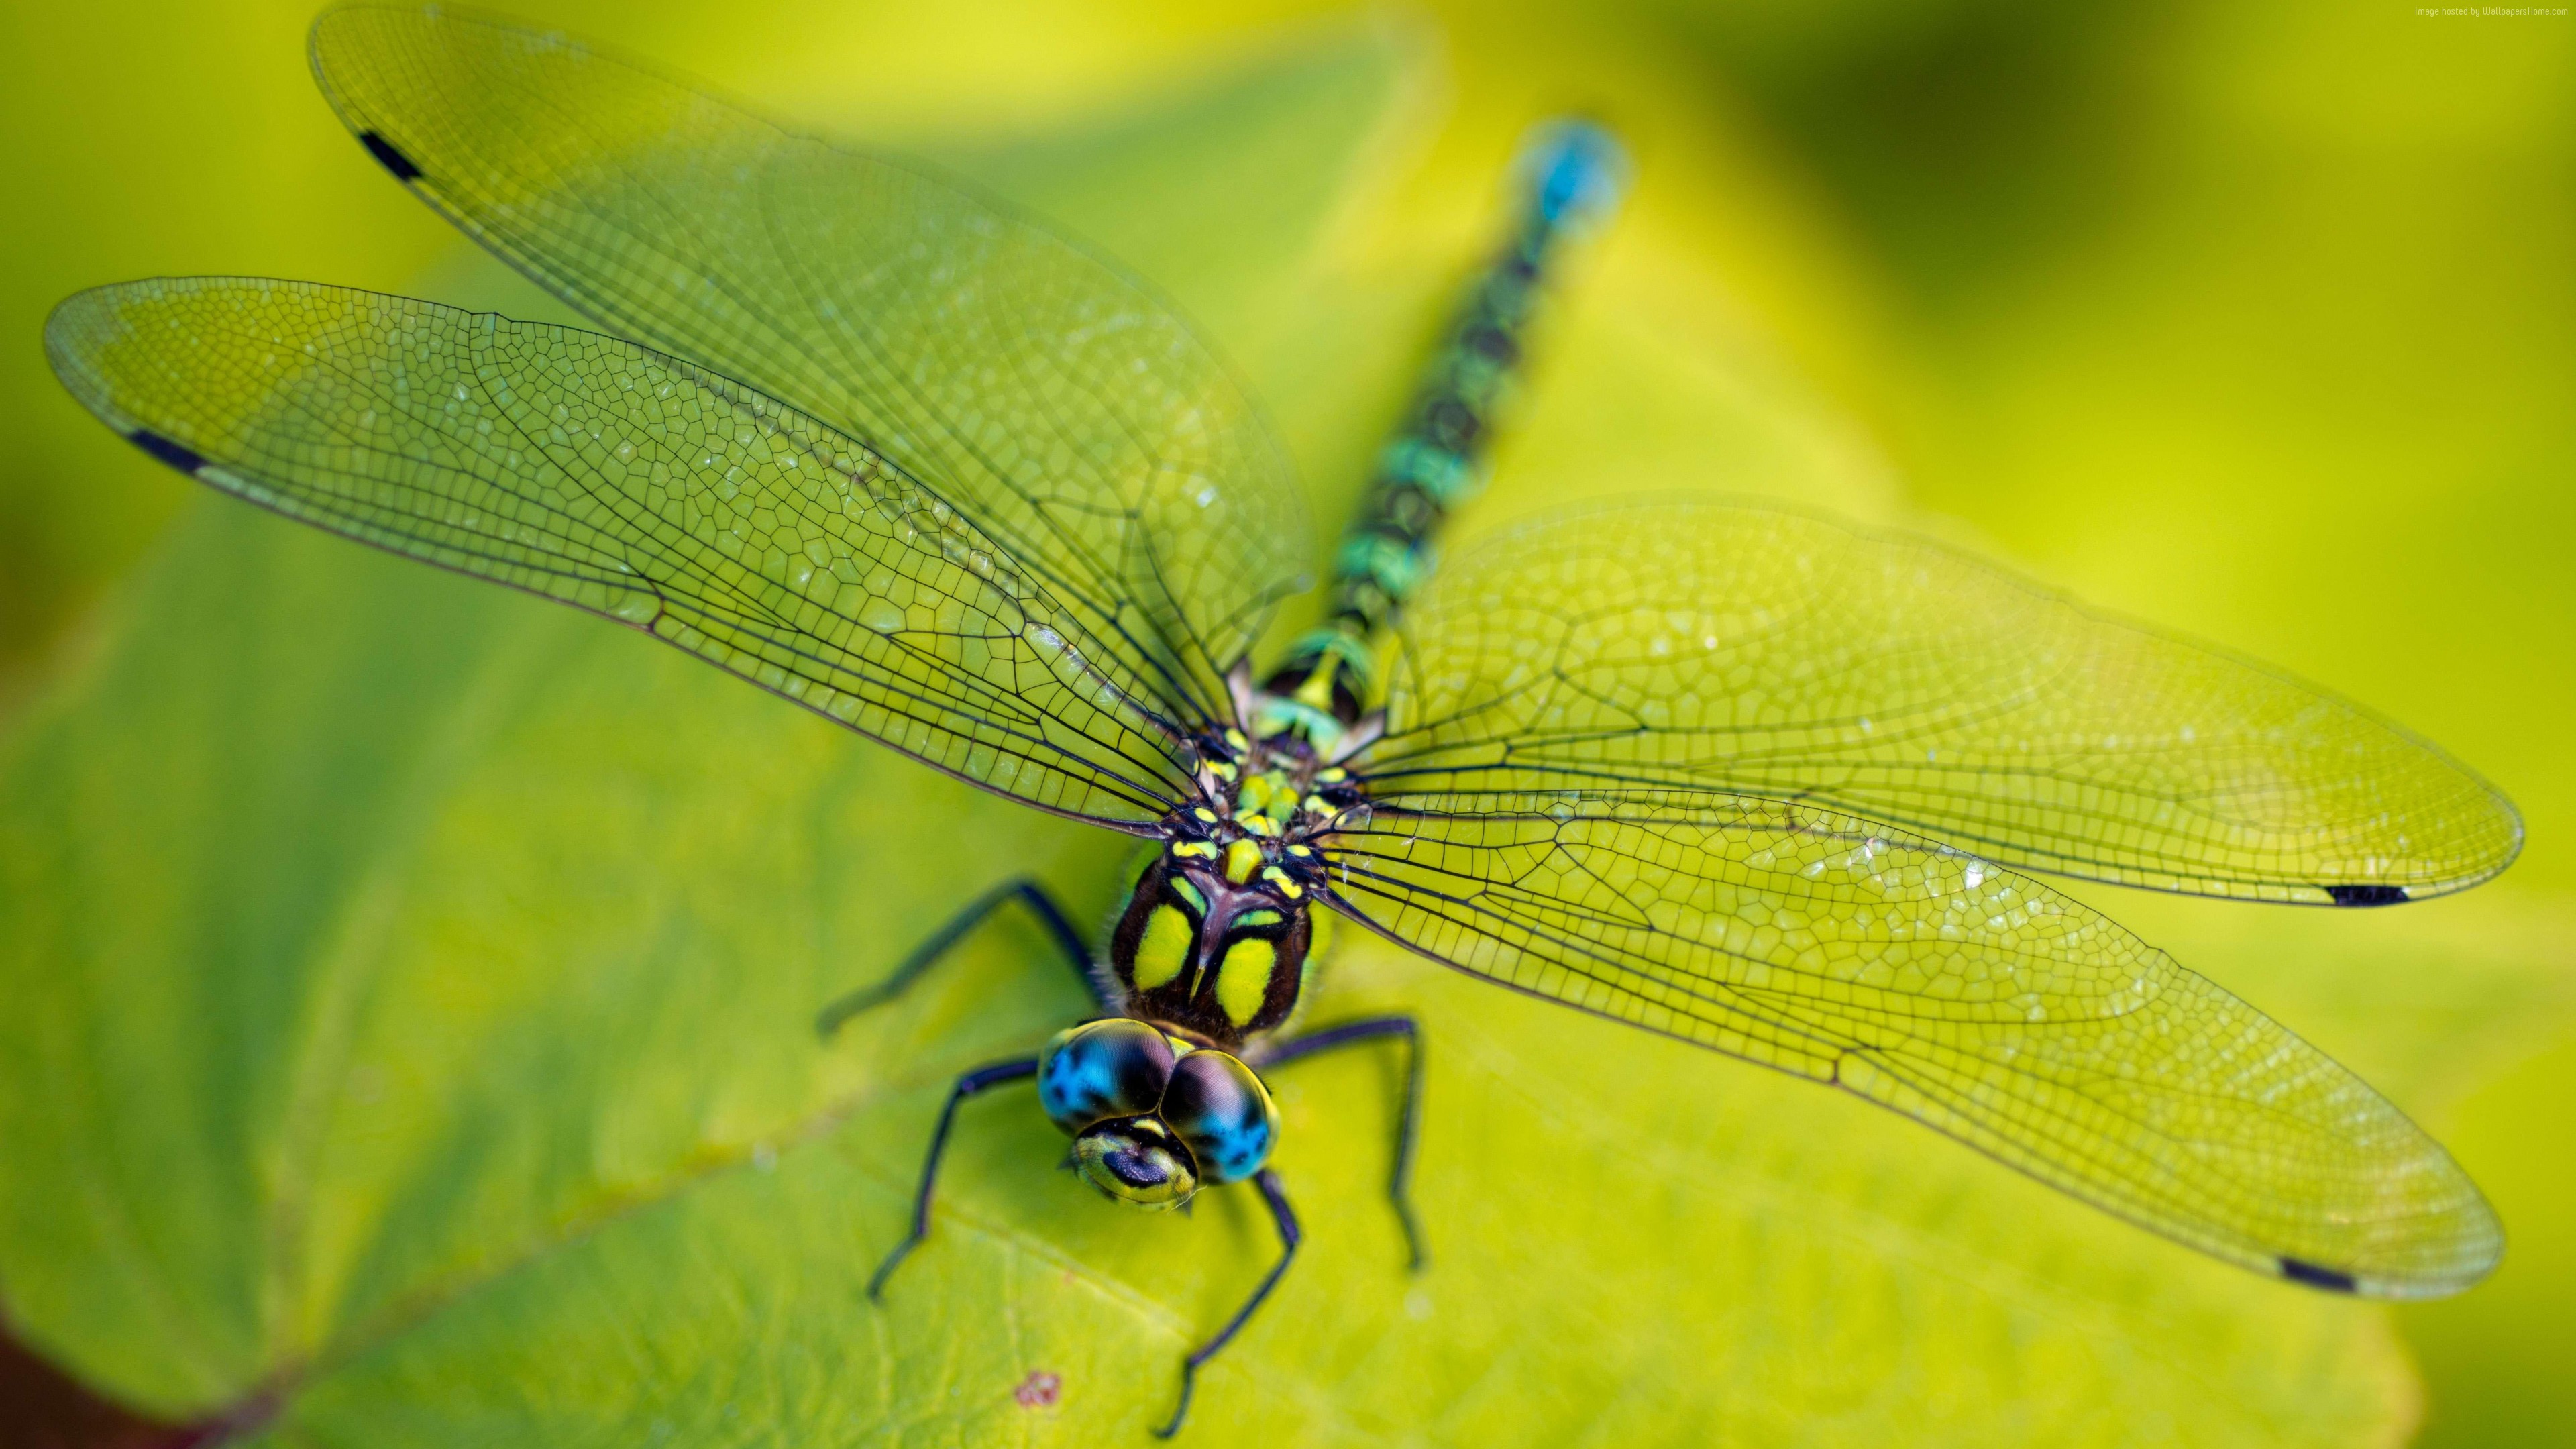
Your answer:
[[[1327,518],[1471,250],[1319,232],[1388,83],[1381,46],[1324,49],[963,157],[1208,317]],[[1708,459],[1880,495],[1723,317],[1695,237],[1731,199],[1667,175],[1548,335],[1556,392],[1476,526],[1744,480]],[[0,758],[8,1320],[103,1392],[278,1444],[1144,1441],[1275,1253],[1247,1191],[1190,1217],[1100,1201],[1002,1091],[961,1114],[930,1243],[863,1297],[945,1083],[1082,1011],[1043,936],[1005,915],[904,1003],[809,1031],[987,884],[1033,871],[1097,915],[1123,859],[629,632],[204,500]],[[2406,936],[2370,980],[2439,951]],[[2442,1029],[2532,1000],[2499,967]],[[2349,1444],[2411,1421],[2378,1307],[1345,941],[1314,1018],[1396,1008],[1430,1042],[1430,1271],[1404,1274],[1383,1204],[1394,1062],[1283,1070],[1306,1248],[1206,1374],[1206,1444]],[[2329,1044],[2429,1057],[2385,1026]]]

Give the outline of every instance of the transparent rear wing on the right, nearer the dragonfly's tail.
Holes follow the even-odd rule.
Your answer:
[[[1646,503],[1432,580],[1368,792],[1718,789],[2084,879],[2380,905],[2522,843],[2494,786],[2262,665],[1937,544]]]

